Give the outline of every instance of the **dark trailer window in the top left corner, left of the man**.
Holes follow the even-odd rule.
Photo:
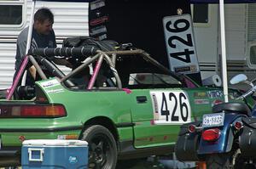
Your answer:
[[[0,5],[0,25],[20,25],[22,5]]]

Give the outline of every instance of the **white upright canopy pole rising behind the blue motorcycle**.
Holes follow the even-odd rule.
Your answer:
[[[224,0],[219,0],[220,14],[220,35],[221,35],[221,59],[222,59],[222,81],[224,90],[224,102],[229,101],[228,97],[228,76],[227,76],[227,59],[226,59],[226,43],[225,43],[225,24],[224,24]]]

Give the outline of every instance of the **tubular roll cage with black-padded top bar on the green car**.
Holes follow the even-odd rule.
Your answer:
[[[108,72],[108,76],[110,75],[115,79],[115,85],[118,89],[122,89],[125,86],[122,78],[119,76],[119,71],[122,74],[125,74],[125,69],[123,65],[128,65],[131,68],[131,71],[137,72],[137,70],[148,69],[154,73],[162,73],[165,75],[170,75],[177,79],[180,82],[184,82],[186,86],[190,87],[198,87],[195,82],[192,82],[189,77],[183,76],[181,74],[177,74],[168,70],[165,66],[160,65],[158,61],[150,57],[148,53],[143,51],[142,49],[134,49],[134,50],[116,50],[116,51],[108,51],[103,52],[94,47],[81,47],[81,48],[34,48],[30,49],[28,52],[29,59],[32,62],[38,71],[38,75],[44,80],[47,77],[42,70],[40,65],[44,65],[45,68],[51,73],[52,76],[56,76],[60,79],[66,87],[68,88],[78,88],[71,80],[73,76],[83,72],[85,69],[89,67],[89,65],[94,65],[94,70],[92,75],[90,76],[89,83],[86,87],[87,90],[91,90],[95,84],[97,76],[102,67],[103,60],[104,64],[109,67],[110,73]],[[79,67],[72,70],[70,73],[65,75],[58,67],[53,63],[54,59],[78,59],[84,60]],[[141,68],[133,68],[134,65],[129,65],[130,60],[136,60],[136,62],[144,63],[146,65],[150,65],[149,67],[142,65],[144,67]],[[26,60],[24,60],[26,61]],[[123,62],[122,65],[119,63]],[[127,63],[126,63],[127,62]],[[119,65],[119,71],[116,68],[116,65]],[[130,69],[129,68],[129,69]],[[127,69],[127,67],[126,67]],[[123,77],[123,76],[121,76]],[[189,82],[189,83],[188,83]],[[192,85],[192,86],[191,86]]]

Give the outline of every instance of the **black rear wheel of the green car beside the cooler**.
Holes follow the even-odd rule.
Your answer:
[[[106,127],[87,127],[82,140],[89,146],[89,169],[114,169],[117,162],[117,146],[113,134]]]

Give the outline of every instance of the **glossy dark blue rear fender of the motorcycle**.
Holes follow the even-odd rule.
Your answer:
[[[225,112],[224,126],[218,127],[218,129],[221,131],[218,140],[215,142],[207,142],[201,138],[198,155],[230,152],[235,138],[235,132],[232,128],[232,124],[236,121],[241,121],[241,117],[243,116],[246,115]],[[209,128],[204,128],[203,131],[207,129]]]

